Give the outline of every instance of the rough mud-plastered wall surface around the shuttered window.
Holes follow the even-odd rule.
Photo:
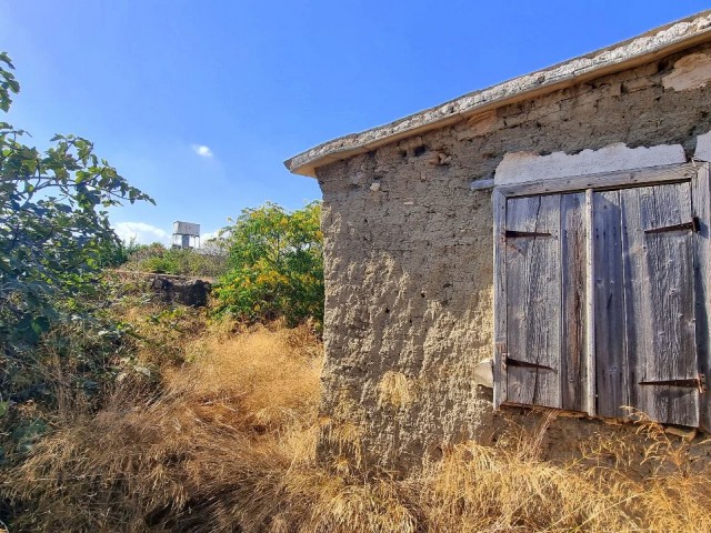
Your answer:
[[[710,56],[710,46],[688,50],[317,170],[322,456],[407,469],[451,443],[495,440],[502,418],[537,423],[528,411],[492,413],[473,384],[492,354],[493,272],[491,192],[471,183],[491,179],[507,152],[679,143],[691,157],[711,129]],[[559,419],[543,445],[558,456],[599,428]]]

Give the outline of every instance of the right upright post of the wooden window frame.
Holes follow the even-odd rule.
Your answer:
[[[697,311],[697,356],[699,372],[707,383],[711,384],[711,342],[709,340],[711,322],[711,184],[709,163],[704,163],[691,180],[691,209],[697,218],[694,234],[694,306]],[[700,398],[699,425],[711,432],[711,394],[705,392]]]

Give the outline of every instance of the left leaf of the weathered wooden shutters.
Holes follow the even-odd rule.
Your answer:
[[[514,198],[505,264],[511,403],[583,410],[584,193]]]

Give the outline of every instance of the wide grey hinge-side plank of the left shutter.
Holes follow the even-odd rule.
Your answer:
[[[508,401],[561,408],[560,195],[510,199],[507,230]]]

